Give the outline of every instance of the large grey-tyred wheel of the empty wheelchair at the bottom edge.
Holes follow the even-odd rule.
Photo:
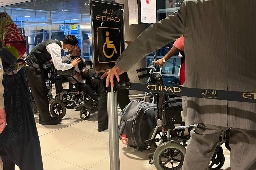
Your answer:
[[[157,170],[181,170],[186,148],[180,143],[169,141],[157,147],[153,161]]]

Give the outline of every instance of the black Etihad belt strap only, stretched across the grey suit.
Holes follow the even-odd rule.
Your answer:
[[[175,96],[205,98],[205,99],[229,100],[229,101],[248,102],[248,103],[256,102],[256,92],[197,89],[197,88],[187,88],[182,86],[160,86],[160,85],[152,85],[152,84],[117,82],[117,81],[115,81],[114,88],[145,91],[145,92],[152,92],[152,93],[163,93],[163,94],[175,95]]]

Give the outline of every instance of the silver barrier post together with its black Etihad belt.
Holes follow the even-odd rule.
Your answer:
[[[104,83],[105,84],[105,83]],[[105,86],[106,87],[106,86]],[[238,92],[215,89],[197,89],[182,86],[160,86],[154,84],[141,84],[130,82],[114,82],[114,88],[106,89],[108,101],[108,127],[110,148],[110,169],[120,170],[118,145],[118,118],[117,118],[117,89],[138,90],[152,93],[163,93],[175,96],[187,96],[204,99],[228,100],[238,102],[256,102],[256,92]]]

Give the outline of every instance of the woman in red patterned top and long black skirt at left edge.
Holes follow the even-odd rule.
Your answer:
[[[39,137],[25,71],[23,35],[0,12],[0,156],[4,170],[43,170]]]

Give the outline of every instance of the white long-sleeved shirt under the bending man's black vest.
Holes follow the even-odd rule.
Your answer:
[[[61,42],[62,48],[63,48],[63,43]],[[57,70],[68,70],[73,67],[72,64],[67,64],[63,63],[61,59],[61,49],[62,49],[58,44],[52,43],[46,45],[47,51],[51,54],[53,65]]]

